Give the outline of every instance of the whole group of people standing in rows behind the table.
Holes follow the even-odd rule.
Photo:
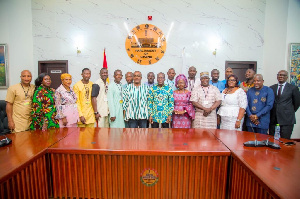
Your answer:
[[[140,71],[127,72],[122,85],[121,70],[114,71],[108,81],[108,70],[100,70],[100,78],[90,81],[91,71],[82,70],[82,79],[73,88],[72,76],[61,75],[62,84],[51,88],[51,77],[42,73],[31,84],[28,70],[21,73],[21,83],[7,91],[9,128],[15,132],[46,130],[58,127],[111,128],[220,128],[247,130],[274,135],[280,124],[281,137],[289,139],[300,106],[300,92],[287,83],[288,72],[277,74],[278,84],[264,86],[263,76],[253,69],[246,71],[245,82],[239,82],[231,68],[226,79],[219,71],[201,72],[191,66],[188,77],[176,76],[173,68],[155,75],[147,74],[142,83]],[[245,125],[243,123],[245,120]]]

